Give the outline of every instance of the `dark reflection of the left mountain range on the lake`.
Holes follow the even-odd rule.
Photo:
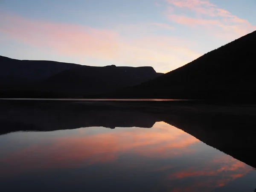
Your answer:
[[[0,134],[55,131],[82,127],[151,128],[155,121],[141,111],[107,102],[0,101]]]

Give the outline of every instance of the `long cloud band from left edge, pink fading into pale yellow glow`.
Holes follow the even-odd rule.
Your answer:
[[[0,13],[0,17],[0,32],[16,41],[35,49],[47,48],[59,55],[102,60],[103,65],[106,61],[113,61],[117,65],[151,65],[159,72],[169,72],[200,56],[188,48],[187,41],[182,43],[180,38],[160,37],[148,32],[151,28],[174,29],[165,23],[144,23],[110,30],[31,20],[4,13]],[[144,32],[141,32],[141,28]],[[129,33],[122,35],[122,30],[126,33],[131,30],[130,34],[135,36],[131,37]],[[135,30],[139,30],[138,35]]]

